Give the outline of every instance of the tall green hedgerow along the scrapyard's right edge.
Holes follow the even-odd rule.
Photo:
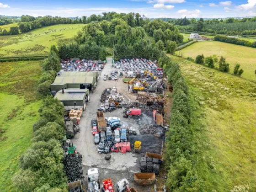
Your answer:
[[[188,86],[179,64],[164,53],[158,59],[169,83],[173,86],[172,114],[166,133],[165,162],[168,167],[166,185],[170,191],[203,191],[203,181],[193,169],[192,131]]]

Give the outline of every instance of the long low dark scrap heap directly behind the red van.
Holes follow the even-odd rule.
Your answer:
[[[150,111],[152,112],[153,110],[160,110],[163,109],[163,106],[159,105],[157,102],[152,102],[149,104],[149,102],[147,104],[143,104],[141,102],[137,102],[137,101],[130,101],[128,103],[124,103],[123,104],[123,108],[127,111],[130,108],[140,108],[141,111],[147,112]]]

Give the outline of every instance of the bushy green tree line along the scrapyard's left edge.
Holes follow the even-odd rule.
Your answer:
[[[13,185],[23,192],[67,190],[61,143],[65,136],[64,105],[50,96],[49,89],[60,69],[56,50],[53,46],[42,63],[43,73],[38,85],[38,93],[43,97],[38,110],[40,118],[33,125],[32,146],[20,156],[21,169],[13,177]]]

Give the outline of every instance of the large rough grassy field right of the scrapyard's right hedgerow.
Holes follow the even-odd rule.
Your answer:
[[[192,162],[206,191],[229,191],[248,183],[256,191],[256,84],[171,58],[189,85]]]

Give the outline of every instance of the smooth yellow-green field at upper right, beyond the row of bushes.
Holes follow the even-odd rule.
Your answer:
[[[177,51],[176,54],[178,55],[179,52]],[[182,49],[182,57],[184,58],[192,57],[195,59],[199,54],[203,54],[205,57],[213,54],[218,55],[219,58],[223,56],[231,66],[230,73],[233,73],[235,64],[239,63],[241,68],[244,69],[241,76],[256,81],[254,74],[254,70],[256,70],[256,48],[217,41],[204,41]]]

